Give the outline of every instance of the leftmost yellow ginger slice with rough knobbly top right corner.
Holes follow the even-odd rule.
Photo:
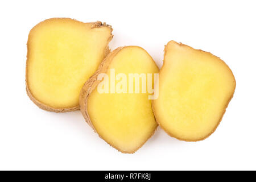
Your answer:
[[[85,81],[109,53],[112,27],[52,18],[28,35],[26,89],[41,109],[64,112],[79,109]]]

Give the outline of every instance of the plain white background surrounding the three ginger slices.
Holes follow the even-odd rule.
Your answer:
[[[0,169],[256,169],[255,9],[255,1],[1,1]],[[122,154],[80,111],[39,109],[25,90],[27,36],[53,17],[111,24],[110,48],[141,46],[159,67],[169,40],[221,57],[237,88],[216,132],[189,143],[158,128],[135,154]]]

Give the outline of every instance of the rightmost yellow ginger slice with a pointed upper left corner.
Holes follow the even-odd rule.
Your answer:
[[[171,137],[203,140],[216,130],[235,87],[220,58],[171,41],[159,72],[159,97],[152,102],[156,121]]]

